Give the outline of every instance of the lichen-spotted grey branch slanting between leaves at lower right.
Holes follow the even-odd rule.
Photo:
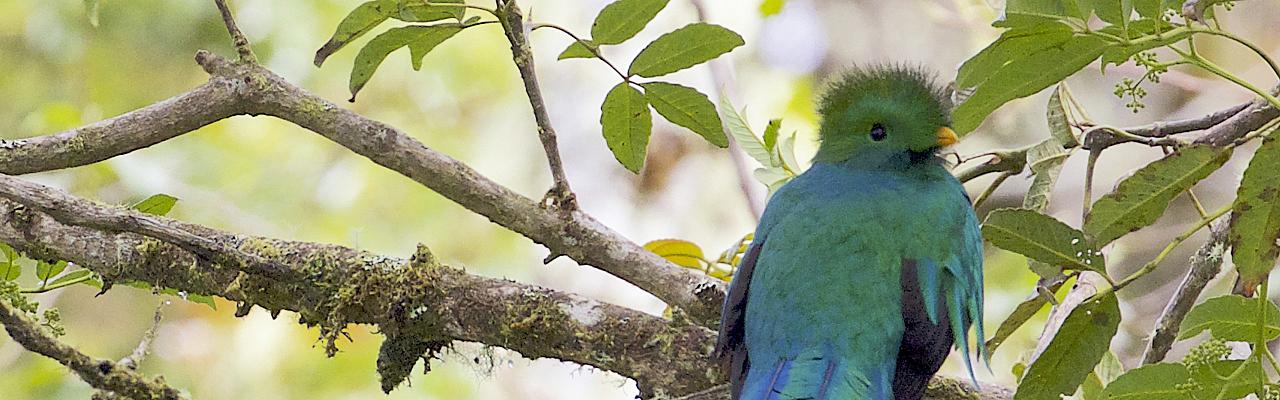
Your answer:
[[[1169,349],[1172,347],[1174,341],[1178,338],[1178,328],[1183,324],[1183,318],[1196,305],[1196,299],[1204,291],[1208,281],[1213,279],[1222,271],[1222,256],[1226,253],[1226,228],[1230,219],[1231,217],[1229,215],[1219,218],[1219,222],[1210,227],[1208,241],[1192,255],[1187,277],[1178,286],[1178,291],[1169,300],[1169,305],[1165,306],[1165,310],[1160,314],[1160,321],[1156,322],[1156,327],[1151,332],[1147,351],[1142,354],[1143,364],[1155,364],[1165,360],[1165,355],[1169,354]]]

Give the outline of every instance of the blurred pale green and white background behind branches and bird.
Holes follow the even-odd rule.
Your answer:
[[[704,0],[710,22],[740,32],[746,46],[718,63],[719,87],[707,67],[678,72],[672,81],[708,94],[730,94],[746,106],[759,131],[783,118],[800,135],[801,159],[813,151],[812,100],[824,77],[863,63],[909,62],[950,79],[968,56],[998,36],[989,27],[998,1],[790,0],[781,13],[763,15],[759,1]],[[332,101],[388,122],[428,146],[475,167],[530,197],[549,187],[529,105],[497,26],[468,29],[426,58],[421,72],[408,68],[407,51],[393,54],[355,104],[346,104],[347,76],[356,46],[323,68],[311,56],[357,0],[232,1],[259,58],[273,71]],[[535,21],[589,32],[607,0],[525,0]],[[489,5],[485,3],[485,5]],[[205,0],[102,1],[100,26],[90,24],[78,0],[0,0],[0,137],[47,135],[118,115],[178,95],[205,81],[192,62],[196,50],[233,51],[212,5]],[[630,42],[605,50],[625,64],[645,42],[696,19],[689,0],[673,0],[649,28]],[[1280,54],[1280,10],[1274,1],[1239,1],[1224,26],[1262,49]],[[392,26],[388,23],[387,26]],[[366,38],[367,40],[367,38]],[[568,178],[582,208],[637,242],[685,238],[709,253],[731,246],[754,227],[754,218],[727,151],[655,119],[649,159],[640,176],[626,172],[608,153],[599,129],[599,103],[617,77],[595,60],[556,62],[570,40],[557,32],[532,36],[541,86]],[[1274,77],[1244,49],[1204,40],[1201,50],[1228,69],[1271,86]],[[1101,73],[1092,67],[1069,79],[1089,114],[1115,126],[1197,117],[1249,99],[1238,88],[1194,71],[1174,71],[1148,85],[1147,108],[1132,113],[1112,87],[1137,78],[1130,65]],[[1015,101],[957,147],[961,155],[1010,149],[1047,137],[1041,94]],[[1108,150],[1098,168],[1096,192],[1158,150],[1124,145]],[[1066,164],[1051,208],[1071,224],[1080,222],[1083,154]],[[1243,171],[1243,156],[1197,187],[1212,206],[1229,201]],[[749,165],[748,168],[754,168]],[[547,250],[471,214],[407,178],[381,169],[316,135],[271,118],[238,117],[197,132],[93,165],[28,176],[33,181],[111,204],[152,194],[182,199],[170,214],[238,233],[355,246],[410,255],[426,244],[443,260],[468,272],[507,277],[659,314],[663,304],[625,282],[559,259],[539,260]],[[986,209],[1020,204],[1027,176],[1010,179]],[[988,178],[970,182],[974,195]],[[753,195],[763,186],[751,182]],[[1179,199],[1153,227],[1110,249],[1112,274],[1148,260],[1162,241],[1183,229],[1194,210]],[[1192,242],[1196,242],[1193,240]],[[1184,271],[1194,245],[1179,249],[1149,278],[1121,294],[1125,322],[1112,349],[1133,367],[1142,338]],[[987,256],[987,332],[1023,300],[1036,281],[1025,259],[989,249]],[[1230,276],[1207,295],[1228,291]],[[32,282],[31,272],[23,282]],[[127,355],[148,327],[152,309],[168,301],[165,319],[142,369],[197,399],[366,399],[380,397],[374,359],[380,338],[351,327],[352,341],[324,356],[316,332],[296,315],[270,318],[261,310],[233,318],[233,305],[218,309],[116,287],[95,297],[95,288],[73,287],[37,296],[61,310],[68,342],[104,358]],[[1034,346],[1044,313],[996,354],[979,379],[1011,383],[1010,367]],[[1178,349],[1185,349],[1179,346]],[[1184,350],[1181,350],[1184,351]],[[1176,350],[1175,350],[1176,353]],[[1176,356],[1176,355],[1175,355]],[[959,376],[952,355],[943,373]],[[421,368],[421,367],[419,367]],[[430,374],[393,399],[631,399],[627,379],[557,360],[457,344]],[[59,364],[24,351],[0,335],[0,397],[84,399],[90,387]]]

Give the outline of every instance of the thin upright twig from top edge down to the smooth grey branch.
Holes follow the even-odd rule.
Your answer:
[[[543,101],[543,91],[538,88],[538,73],[534,71],[534,53],[529,49],[529,31],[524,23],[524,15],[515,0],[498,1],[498,21],[511,42],[512,60],[516,69],[520,69],[520,78],[525,82],[525,94],[529,95],[529,105],[534,108],[534,121],[538,123],[538,138],[543,142],[547,153],[547,163],[552,168],[552,178],[556,186],[547,192],[547,199],[559,210],[571,212],[577,209],[577,200],[573,191],[568,188],[568,178],[564,177],[564,167],[561,165],[559,146],[556,144],[556,128],[552,127],[550,115],[547,114],[547,104]],[[547,259],[550,262],[550,258]]]

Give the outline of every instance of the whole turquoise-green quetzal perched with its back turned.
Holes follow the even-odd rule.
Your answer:
[[[733,399],[914,400],[952,344],[982,346],[982,237],[937,155],[931,74],[854,69],[819,100],[813,167],[769,200],[730,285],[717,354]]]

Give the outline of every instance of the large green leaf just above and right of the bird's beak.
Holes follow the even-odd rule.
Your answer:
[[[1080,71],[1102,55],[1107,42],[1073,36],[1061,24],[1005,32],[991,46],[960,67],[957,87],[973,94],[952,112],[952,128],[968,133],[993,110],[1014,99],[1034,95]]]

